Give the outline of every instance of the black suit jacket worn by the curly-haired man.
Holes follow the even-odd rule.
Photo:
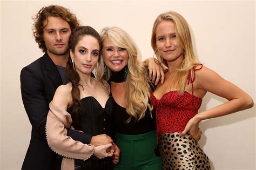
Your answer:
[[[56,169],[57,154],[48,146],[45,125],[49,103],[62,78],[56,65],[47,53],[21,71],[22,100],[32,125],[31,140],[22,165],[22,169]],[[89,144],[92,136],[78,131],[68,130],[74,140]]]

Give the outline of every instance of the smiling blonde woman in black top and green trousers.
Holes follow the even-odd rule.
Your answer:
[[[156,115],[149,100],[151,86],[147,69],[139,60],[132,38],[124,30],[104,28],[100,37],[106,66],[104,76],[115,101],[116,144],[122,152],[114,169],[161,169],[161,160],[154,154]]]

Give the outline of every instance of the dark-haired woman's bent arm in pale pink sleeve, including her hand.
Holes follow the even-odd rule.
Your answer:
[[[71,87],[69,85],[59,86],[55,96],[50,103],[50,111],[46,121],[46,137],[50,148],[63,157],[86,160],[95,154],[97,158],[111,157],[112,151],[106,153],[106,149],[112,146],[86,145],[75,141],[66,135],[66,128],[71,127],[71,115],[66,112],[71,101]]]

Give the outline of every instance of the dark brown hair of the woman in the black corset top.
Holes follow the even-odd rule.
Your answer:
[[[91,28],[91,26],[77,26],[77,28],[73,31],[69,39],[69,48],[73,53],[75,52],[75,47],[78,44],[79,40],[82,39],[82,37],[84,36],[92,36],[98,40],[98,43],[100,42],[99,33],[95,29]],[[73,104],[72,104],[71,115],[72,115],[73,123],[76,126],[78,125],[78,119],[79,119],[78,110],[80,108],[80,90],[78,86],[82,86],[82,85],[79,84],[80,77],[77,71],[74,70],[73,68],[71,58],[69,58],[68,65],[66,67],[66,77],[70,80],[72,84],[71,96],[72,96]]]

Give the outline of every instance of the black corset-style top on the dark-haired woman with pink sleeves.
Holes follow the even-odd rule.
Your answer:
[[[113,113],[113,98],[107,99],[103,108],[92,96],[80,100],[81,108],[78,111],[79,121],[75,125],[75,130],[83,131],[91,135],[107,134],[111,135],[111,117]],[[68,108],[70,113],[72,107]],[[86,160],[75,159],[75,166],[79,169],[112,169],[112,158],[97,159],[94,155]]]

